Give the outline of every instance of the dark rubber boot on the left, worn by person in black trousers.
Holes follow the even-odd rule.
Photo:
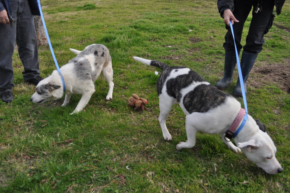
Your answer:
[[[238,50],[240,54],[240,50]],[[232,80],[233,72],[237,64],[237,58],[235,50],[225,51],[224,56],[224,77],[215,85],[218,89],[226,89]]]

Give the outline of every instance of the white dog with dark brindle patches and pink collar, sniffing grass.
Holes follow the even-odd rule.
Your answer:
[[[234,152],[241,149],[249,160],[269,174],[283,171],[277,161],[276,147],[265,132],[264,124],[257,122],[249,115],[238,135],[234,138],[235,146],[225,139],[227,130],[239,114],[241,104],[233,96],[218,90],[193,70],[168,66],[156,60],[133,57],[146,65],[162,69],[156,88],[159,97],[159,122],[165,140],[171,140],[165,121],[173,104],[179,103],[186,115],[186,142],[179,142],[177,149],[195,146],[195,136],[198,131],[209,134],[219,134],[223,142]],[[238,125],[242,121],[238,122]],[[259,127],[260,126],[260,127]],[[260,129],[261,128],[261,129]]]

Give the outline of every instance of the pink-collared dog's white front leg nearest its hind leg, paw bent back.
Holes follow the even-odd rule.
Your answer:
[[[195,119],[192,114],[186,115],[185,117],[185,131],[186,131],[186,142],[179,142],[176,145],[176,149],[180,150],[182,148],[192,148],[195,146],[195,138],[197,130],[194,128]]]

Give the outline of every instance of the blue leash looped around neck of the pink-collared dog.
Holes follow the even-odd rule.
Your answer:
[[[232,31],[232,35],[233,35],[233,39],[234,39],[234,44],[235,44],[235,36],[234,36],[234,31],[233,31],[233,24],[232,24],[231,21],[230,21],[230,27],[231,27],[231,31]],[[238,55],[238,49],[237,49],[236,44],[235,44],[235,52],[236,52],[238,72],[239,72],[239,79],[240,79],[240,84],[241,84],[243,101],[244,101],[244,106],[245,106],[246,113],[245,113],[244,120],[243,120],[242,124],[237,129],[237,131],[234,133],[233,137],[235,137],[235,136],[238,135],[238,133],[242,130],[242,128],[244,127],[244,125],[245,125],[245,123],[246,123],[246,121],[248,119],[247,99],[246,99],[245,87],[244,87],[244,82],[243,82],[243,77],[242,77],[242,70],[241,70],[241,65],[240,65],[240,60],[239,60],[239,55]]]

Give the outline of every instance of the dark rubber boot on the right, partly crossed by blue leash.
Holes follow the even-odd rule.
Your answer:
[[[253,68],[253,65],[257,59],[258,54],[257,53],[249,53],[243,51],[242,58],[241,58],[241,70],[242,70],[242,77],[245,87],[245,94],[247,94],[247,84],[246,81],[249,77],[249,73],[251,69]],[[238,78],[237,86],[235,87],[234,94],[236,96],[242,96],[242,88],[240,84],[240,79]]]

